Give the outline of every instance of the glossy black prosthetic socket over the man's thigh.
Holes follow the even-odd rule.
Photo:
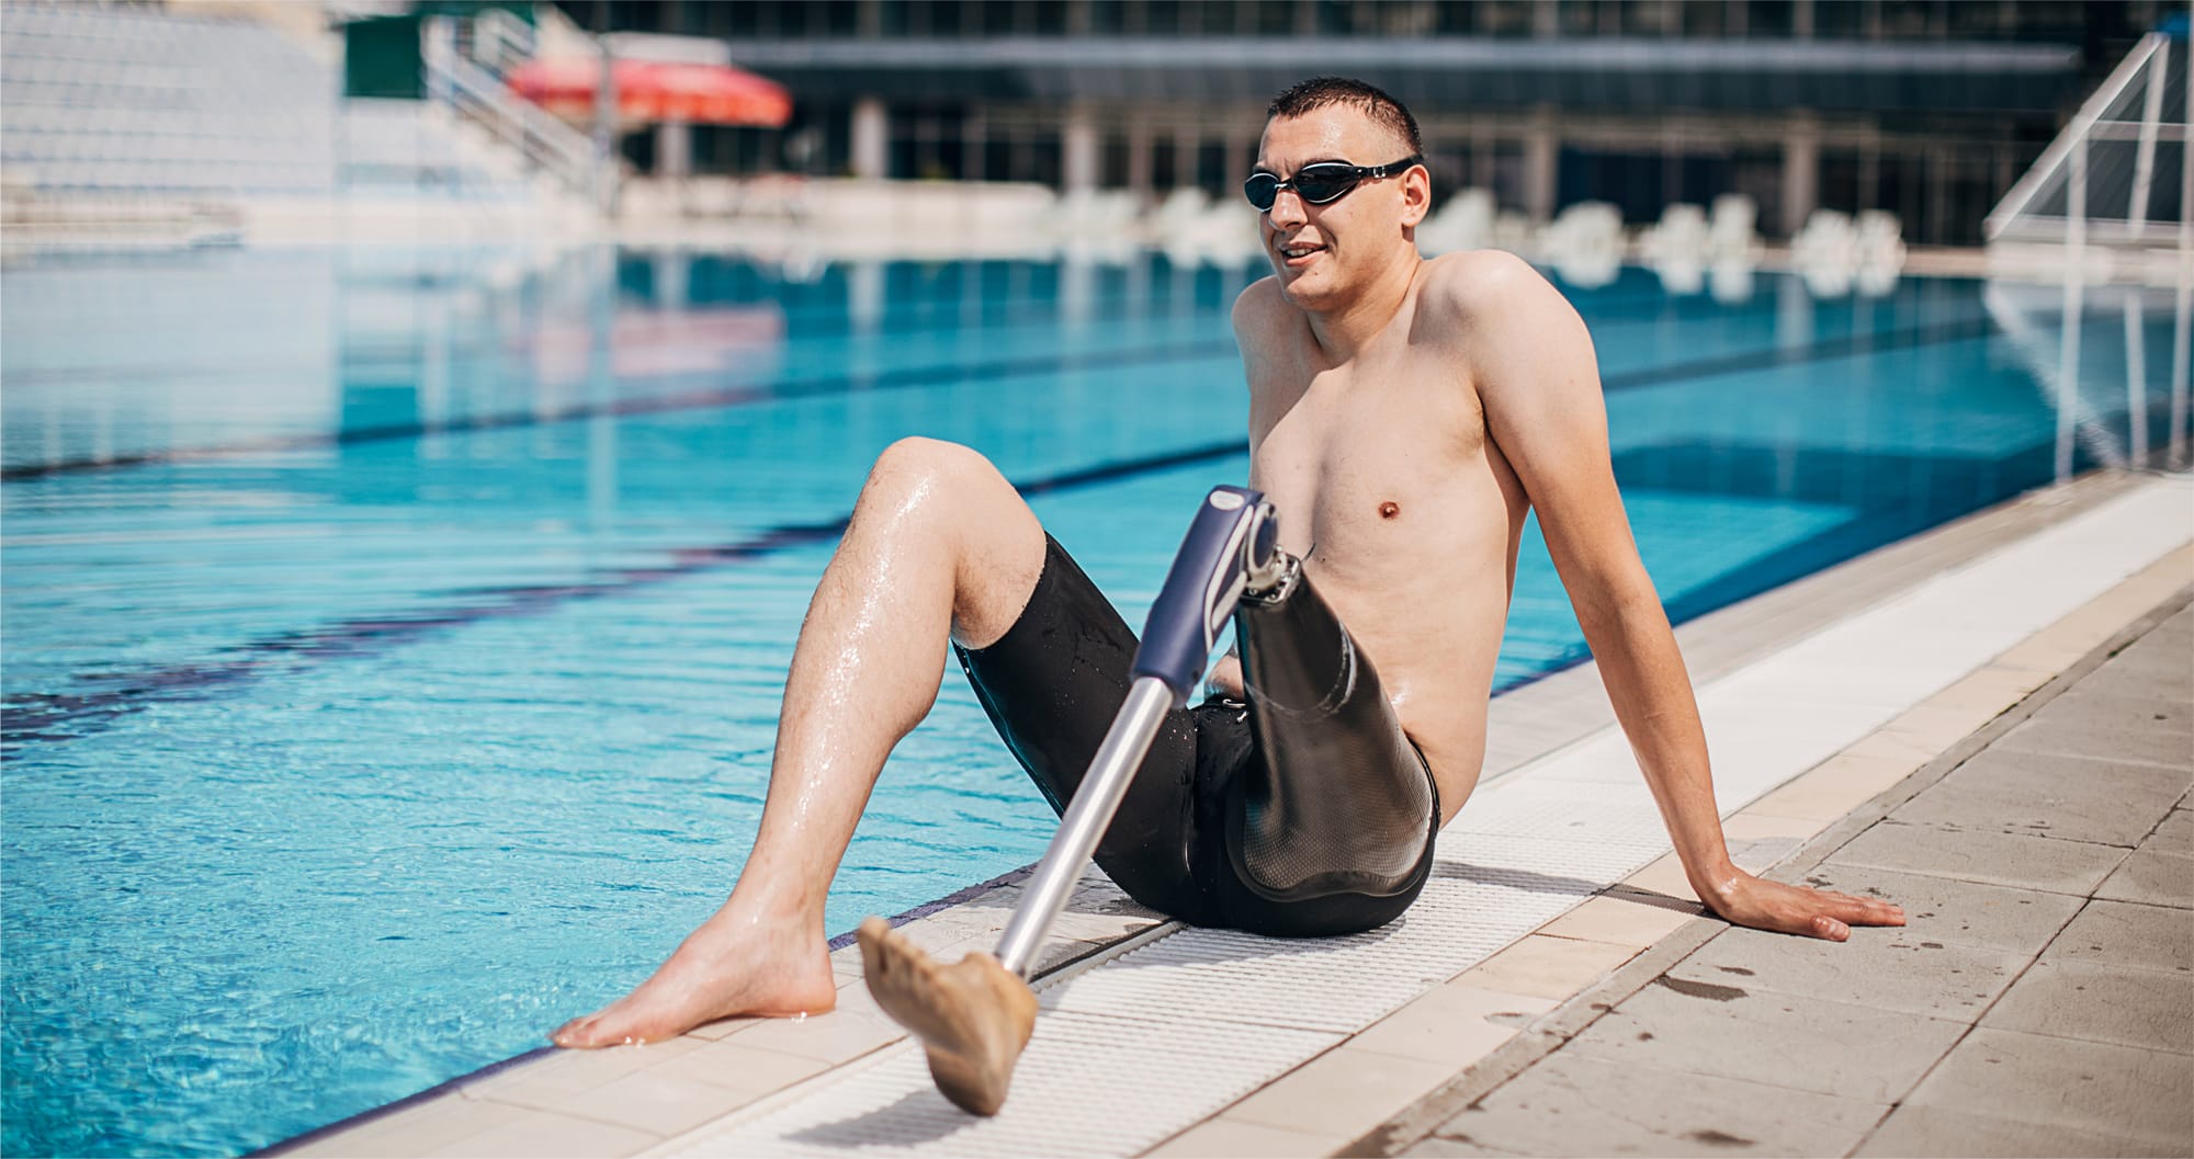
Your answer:
[[[1240,882],[1270,902],[1415,896],[1439,799],[1371,661],[1308,577],[1244,599],[1235,634],[1264,757],[1226,810]]]

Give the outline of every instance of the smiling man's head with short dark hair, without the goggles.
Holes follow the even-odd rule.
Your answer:
[[[1409,156],[1400,134],[1349,105],[1266,123],[1257,169],[1292,178],[1305,165],[1389,165]],[[1413,184],[1417,187],[1413,193]],[[1424,217],[1424,176],[1365,180],[1336,202],[1310,204],[1292,189],[1259,215],[1264,255],[1279,288],[1303,310],[1338,305],[1389,261],[1406,226]]]

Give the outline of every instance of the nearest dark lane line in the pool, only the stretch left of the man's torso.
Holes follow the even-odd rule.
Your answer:
[[[1016,483],[1016,487],[1025,496],[1042,496],[1233,457],[1246,459],[1248,443],[1224,441],[1145,459],[1099,463],[1095,468]],[[467,588],[452,593],[465,597],[456,606],[342,619],[320,628],[259,637],[228,648],[226,656],[215,661],[160,665],[134,674],[79,674],[68,683],[88,685],[88,691],[42,691],[7,700],[7,711],[0,713],[0,746],[4,746],[0,749],[0,759],[13,759],[13,746],[18,744],[75,740],[90,729],[105,727],[114,718],[156,702],[202,700],[222,689],[235,689],[268,676],[296,674],[327,661],[377,656],[450,628],[546,615],[573,601],[623,595],[702,571],[748,564],[794,547],[829,542],[845,533],[851,518],[851,514],[845,514],[827,522],[788,522],[728,544],[674,549],[669,562],[660,566],[619,569],[592,582]]]

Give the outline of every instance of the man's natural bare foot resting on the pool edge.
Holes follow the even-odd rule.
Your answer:
[[[709,922],[638,990],[548,1036],[573,1049],[660,1043],[733,1014],[821,1014],[838,1005],[821,937]]]

